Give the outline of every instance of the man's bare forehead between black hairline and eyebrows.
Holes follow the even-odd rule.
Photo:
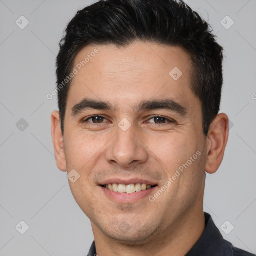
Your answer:
[[[89,45],[78,52],[68,96],[70,107],[84,97],[113,105],[171,97],[182,104],[193,97],[191,60],[180,47],[134,42],[126,47]]]

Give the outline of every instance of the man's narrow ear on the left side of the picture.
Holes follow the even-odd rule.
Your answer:
[[[54,145],[55,159],[60,170],[66,171],[66,159],[63,147],[63,135],[61,132],[59,111],[51,113],[51,137]]]

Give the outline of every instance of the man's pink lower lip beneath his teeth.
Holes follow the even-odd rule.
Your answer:
[[[141,190],[139,192],[134,192],[134,193],[119,193],[119,192],[114,192],[110,191],[109,189],[99,186],[104,194],[109,197],[112,200],[115,200],[118,203],[131,203],[138,201],[140,199],[143,199],[145,197],[149,197],[150,193],[153,193],[154,189],[157,188],[157,186],[154,186],[152,188],[146,189],[146,190]]]

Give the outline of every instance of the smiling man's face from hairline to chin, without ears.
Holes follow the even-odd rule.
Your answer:
[[[206,142],[190,66],[181,48],[145,42],[76,55],[63,164],[80,175],[70,188],[95,232],[143,244],[201,209]]]

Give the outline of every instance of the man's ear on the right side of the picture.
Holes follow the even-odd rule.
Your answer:
[[[218,114],[209,127],[205,166],[205,171],[208,173],[216,172],[223,160],[228,139],[228,129],[228,117],[224,113]]]

